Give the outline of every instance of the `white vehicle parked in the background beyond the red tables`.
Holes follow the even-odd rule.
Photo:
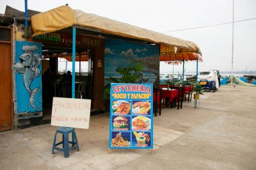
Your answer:
[[[220,75],[216,70],[199,72],[197,81],[203,89],[213,90],[214,92],[220,87]]]

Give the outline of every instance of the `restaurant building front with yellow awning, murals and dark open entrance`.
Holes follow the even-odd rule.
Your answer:
[[[49,24],[50,19],[47,18],[51,15],[61,19],[51,20]],[[72,32],[74,28],[75,34]],[[79,72],[71,73],[75,74],[75,97],[91,99],[92,114],[98,114],[108,112],[109,103],[104,99],[104,88],[110,83],[124,83],[121,77],[125,69],[128,71],[125,74],[137,76],[135,83],[157,86],[160,60],[196,60],[193,52],[200,53],[193,42],[142,28],[138,30],[135,26],[68,6],[33,15],[27,37],[24,37],[22,24],[13,22],[12,28],[1,26],[1,29],[7,30],[5,35],[9,38],[5,40],[1,34],[3,40],[0,47],[7,51],[1,55],[7,67],[1,68],[0,72],[5,75],[1,79],[6,80],[0,85],[5,98],[1,97],[0,102],[1,107],[5,107],[0,131],[48,118],[51,116],[53,97],[71,97],[70,87],[66,87],[67,93],[61,91],[63,75],[58,72],[58,58],[67,61],[75,58],[79,67],[82,62],[88,62],[86,75],[81,73],[80,68]],[[72,55],[73,50],[75,53]],[[84,88],[79,89],[79,84]]]

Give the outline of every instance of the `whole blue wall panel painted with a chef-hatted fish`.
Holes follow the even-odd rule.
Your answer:
[[[17,114],[42,111],[42,46],[16,42]]]

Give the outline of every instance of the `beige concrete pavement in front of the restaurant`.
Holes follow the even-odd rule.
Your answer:
[[[154,117],[151,150],[108,151],[108,114],[76,129],[80,151],[51,154],[57,127],[0,132],[0,169],[256,169],[256,88],[221,86],[200,108],[164,109]]]

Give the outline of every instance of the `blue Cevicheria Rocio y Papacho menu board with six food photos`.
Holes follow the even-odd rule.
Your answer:
[[[109,148],[153,148],[153,85],[110,88]]]

